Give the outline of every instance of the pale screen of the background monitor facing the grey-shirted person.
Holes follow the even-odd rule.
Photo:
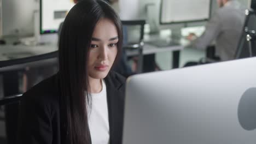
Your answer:
[[[208,20],[211,0],[162,0],[160,24]]]

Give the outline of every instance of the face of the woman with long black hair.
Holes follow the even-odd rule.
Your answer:
[[[107,18],[97,22],[89,47],[88,73],[92,79],[103,79],[112,67],[118,52],[118,31]]]

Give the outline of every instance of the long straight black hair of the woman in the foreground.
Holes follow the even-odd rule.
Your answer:
[[[107,2],[79,1],[63,22],[59,41],[60,113],[67,143],[91,143],[86,106],[89,104],[89,46],[96,23],[107,18],[118,30],[118,54],[123,43],[119,16]],[[115,59],[115,61],[117,58]]]

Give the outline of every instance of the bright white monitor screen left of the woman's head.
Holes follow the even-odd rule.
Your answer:
[[[56,33],[73,6],[72,0],[40,0],[40,34]]]

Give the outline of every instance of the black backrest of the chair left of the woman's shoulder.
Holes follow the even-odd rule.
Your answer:
[[[46,77],[55,74],[58,70],[57,56],[58,52],[55,51],[43,55],[0,61],[4,96],[23,93]]]

